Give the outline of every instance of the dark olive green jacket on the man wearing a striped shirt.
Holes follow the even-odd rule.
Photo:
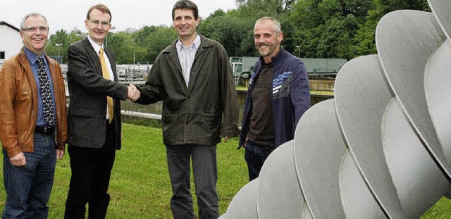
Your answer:
[[[221,136],[237,136],[237,92],[226,50],[201,35],[187,87],[175,43],[156,58],[137,101],[163,101],[164,144],[217,144]]]

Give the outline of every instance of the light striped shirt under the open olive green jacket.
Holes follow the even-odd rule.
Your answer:
[[[200,46],[200,36],[197,35],[194,42],[192,42],[191,46],[185,47],[180,39],[175,44],[177,48],[178,60],[180,61],[180,65],[182,65],[183,78],[185,78],[185,85],[188,87],[190,84],[190,71],[192,67],[192,63],[194,63],[194,56],[196,56],[197,49]]]

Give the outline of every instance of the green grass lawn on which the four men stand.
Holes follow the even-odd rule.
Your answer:
[[[248,179],[244,150],[237,150],[237,144],[237,139],[218,144],[217,189],[221,215]],[[0,158],[3,159],[1,155]],[[5,201],[2,168],[0,165],[0,212]],[[70,165],[66,154],[56,164],[49,218],[63,218],[69,180]],[[169,206],[171,183],[161,128],[123,124],[123,149],[116,154],[109,194],[111,203],[107,218],[172,218]],[[193,198],[197,211],[195,195]],[[440,199],[422,218],[451,218],[451,200]]]

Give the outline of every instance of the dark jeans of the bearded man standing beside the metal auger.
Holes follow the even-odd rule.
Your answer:
[[[254,142],[247,140],[245,160],[247,163],[247,170],[249,171],[249,181],[259,177],[263,163],[273,150],[274,148],[272,146],[255,144]]]

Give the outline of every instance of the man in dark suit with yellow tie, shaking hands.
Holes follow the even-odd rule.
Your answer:
[[[122,99],[139,97],[136,87],[118,83],[113,52],[104,47],[111,28],[109,8],[89,8],[86,39],[68,48],[68,153],[72,177],[65,218],[105,218],[116,149],[121,149]]]

